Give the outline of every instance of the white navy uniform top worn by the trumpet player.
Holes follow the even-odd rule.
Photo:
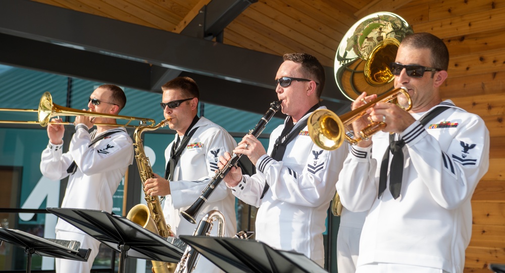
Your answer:
[[[489,166],[489,132],[480,117],[452,101],[440,105],[450,108],[424,128],[419,120],[427,113],[413,114],[418,121],[400,134],[406,142],[405,165],[396,200],[389,192],[389,177],[377,198],[389,133],[375,134],[372,147],[351,148],[337,191],[346,208],[370,210],[358,267],[389,263],[463,272],[472,234],[470,200]]]

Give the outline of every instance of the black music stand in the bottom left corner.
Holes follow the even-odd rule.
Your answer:
[[[77,245],[75,248],[70,248],[20,230],[0,228],[0,243],[2,241],[24,248],[25,253],[28,255],[26,259],[27,273],[31,272],[31,256],[33,253],[60,259],[87,261],[91,252],[89,248],[78,248]]]

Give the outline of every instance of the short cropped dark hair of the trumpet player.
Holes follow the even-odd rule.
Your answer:
[[[414,48],[427,48],[431,52],[431,66],[447,71],[449,67],[449,50],[437,36],[427,33],[413,33],[401,40],[402,45],[412,46]]]

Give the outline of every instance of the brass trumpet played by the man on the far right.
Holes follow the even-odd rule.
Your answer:
[[[368,140],[373,134],[386,127],[386,124],[384,122],[370,122],[363,130],[357,133],[355,132],[354,134],[346,134],[348,126],[352,124],[352,122],[367,115],[367,110],[373,107],[377,102],[394,102],[399,95],[404,95],[408,103],[405,107],[401,105],[400,107],[405,111],[411,110],[412,99],[405,87],[386,92],[365,105],[341,115],[340,117],[327,109],[316,110],[307,120],[309,135],[316,145],[325,150],[337,149],[342,145],[344,140],[353,145],[358,144],[358,142],[362,140]],[[354,138],[349,135],[354,135]]]

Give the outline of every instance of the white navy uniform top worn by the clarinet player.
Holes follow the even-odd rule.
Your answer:
[[[307,124],[310,114],[298,123]],[[268,154],[284,126],[280,125],[270,135]],[[323,150],[314,144],[307,126],[295,133],[298,135],[287,144],[282,161],[266,154],[260,157],[256,163],[257,174],[243,176],[242,182],[233,187],[233,194],[259,207],[257,240],[276,249],[305,254],[324,266],[325,219],[347,145],[333,151]],[[260,199],[265,183],[270,189]]]

